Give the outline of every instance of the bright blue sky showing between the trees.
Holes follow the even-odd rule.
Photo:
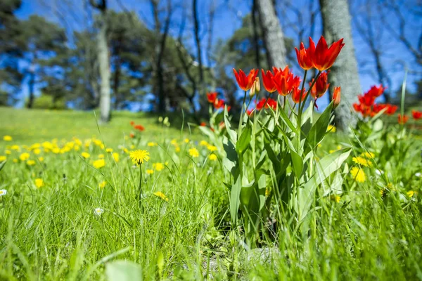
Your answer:
[[[354,0],[351,4],[351,13],[354,16],[359,16],[359,9],[362,8],[363,0]],[[411,0],[410,0],[411,1]],[[417,0],[415,0],[417,1]],[[82,30],[84,27],[87,26],[87,18],[89,18],[89,14],[87,13],[87,9],[84,8],[84,3],[87,0],[23,0],[23,5],[18,11],[17,15],[19,18],[25,19],[32,14],[42,15],[48,20],[53,22],[58,22],[60,25],[65,26],[68,29],[68,32],[71,33],[72,30]],[[307,4],[309,1],[307,0],[298,0],[293,1],[298,11],[302,13],[303,17],[303,25],[306,26],[305,28],[305,38],[307,38],[307,32],[311,29],[310,22],[307,22],[307,12],[308,8],[303,5]],[[313,9],[317,10],[317,2],[314,4]],[[402,1],[397,1],[399,4]],[[407,3],[408,1],[406,1]],[[115,9],[117,11],[122,11],[123,9],[129,11],[135,11],[136,14],[139,15],[141,20],[146,23],[146,25],[150,25],[152,22],[152,14],[151,14],[151,6],[149,1],[147,0],[109,0],[109,8]],[[187,15],[189,16],[191,13],[191,1],[173,1],[173,3],[177,6],[174,11],[174,21],[171,27],[171,33],[176,35],[179,31],[178,22],[182,16],[182,8],[186,8]],[[215,22],[214,22],[214,37],[212,39],[213,43],[216,43],[218,39],[228,39],[234,33],[238,27],[241,26],[241,18],[250,12],[252,1],[246,0],[199,0],[198,1],[198,12],[200,16],[200,27],[205,30],[208,25],[208,11],[210,5],[214,3],[216,8],[215,10]],[[405,3],[405,2],[402,2]],[[407,3],[409,4],[409,3]],[[285,26],[283,26],[283,31],[286,33],[286,36],[292,37],[295,39],[295,44],[299,44],[298,41],[298,34],[297,34],[297,27],[294,23],[298,17],[293,10],[289,10],[285,6],[278,6],[277,11],[279,12],[280,18],[282,19],[281,22]],[[284,12],[283,12],[284,11]],[[59,13],[62,16],[58,16]],[[410,17],[410,15],[409,15]],[[355,20],[355,18],[353,19]],[[416,18],[409,18],[411,20],[411,24],[409,25],[409,37],[412,37],[412,28],[422,26],[421,17]],[[195,51],[195,46],[193,44],[193,34],[189,34],[191,32],[191,28],[189,28],[189,22],[187,22],[186,26],[186,36],[188,37],[186,44],[190,45],[192,51]],[[308,26],[307,26],[308,25]],[[419,28],[420,29],[420,28]],[[369,53],[369,48],[365,43],[365,40],[360,36],[359,32],[355,25],[352,25],[352,34],[354,40],[354,48],[357,55],[358,60],[358,67],[359,67],[359,79],[362,86],[362,91],[366,91],[369,89],[373,84],[378,84],[376,80],[376,73],[375,68],[373,67],[373,58]],[[314,25],[314,39],[318,39],[321,35],[321,19],[319,16],[316,17],[316,22]],[[390,35],[388,33],[384,34],[377,34],[380,36],[381,43],[379,48],[385,53],[383,57],[383,63],[386,65],[390,77],[392,78],[392,89],[395,91],[399,88],[402,84],[402,80],[404,77],[404,67],[402,65],[397,65],[397,58],[399,61],[407,63],[407,67],[411,68],[412,70],[415,69],[419,73],[409,75],[409,89],[414,90],[414,86],[412,85],[412,81],[419,79],[421,77],[421,69],[420,67],[416,67],[414,64],[411,64],[411,55],[402,44],[397,41],[390,40]],[[415,39],[415,38],[411,38]],[[307,45],[307,39],[304,40],[305,45]],[[202,44],[207,43],[207,36],[204,35],[202,37]],[[347,42],[346,42],[347,43]],[[205,52],[203,52],[205,53]],[[203,60],[206,60],[205,55]],[[296,65],[293,65],[293,70],[296,71],[297,74],[300,74],[300,70]],[[27,93],[27,87],[24,86],[23,89],[24,93]]]

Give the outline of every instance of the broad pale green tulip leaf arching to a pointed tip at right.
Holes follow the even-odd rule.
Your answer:
[[[351,151],[351,148],[337,150],[316,162],[314,175],[309,178],[303,188],[298,190],[298,209],[296,211],[298,212],[299,221],[302,221],[307,216],[309,208],[314,201],[316,187],[341,168]]]

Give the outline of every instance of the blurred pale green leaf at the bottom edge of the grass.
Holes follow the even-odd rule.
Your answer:
[[[113,261],[106,265],[106,276],[110,281],[143,280],[142,268],[132,261]]]

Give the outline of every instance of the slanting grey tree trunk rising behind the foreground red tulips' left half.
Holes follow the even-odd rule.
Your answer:
[[[286,65],[286,46],[274,4],[271,0],[257,0],[256,5],[260,14],[262,39],[264,39],[264,46],[267,49],[269,67],[284,67]]]

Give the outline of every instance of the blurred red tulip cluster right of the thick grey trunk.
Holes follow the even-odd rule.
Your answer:
[[[363,117],[373,117],[377,113],[385,110],[386,115],[393,115],[397,111],[397,105],[390,105],[389,103],[375,103],[376,98],[381,96],[385,91],[383,85],[372,86],[369,91],[363,95],[357,96],[359,103],[354,103],[353,108],[356,112],[362,114]]]

